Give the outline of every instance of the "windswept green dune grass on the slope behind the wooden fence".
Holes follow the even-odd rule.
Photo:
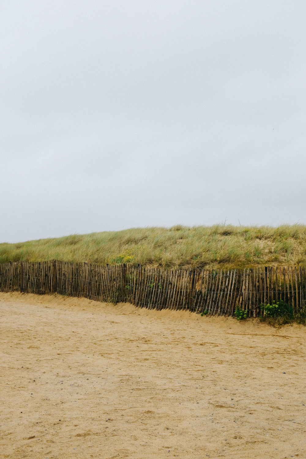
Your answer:
[[[0,263],[17,260],[141,263],[161,268],[244,268],[306,264],[306,226],[173,226],[0,244]]]

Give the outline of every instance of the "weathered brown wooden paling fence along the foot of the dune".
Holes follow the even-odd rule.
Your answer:
[[[103,302],[131,302],[140,308],[188,309],[195,313],[249,316],[262,304],[283,300],[306,309],[305,267],[155,269],[130,264],[12,262],[0,264],[0,291],[59,293]]]

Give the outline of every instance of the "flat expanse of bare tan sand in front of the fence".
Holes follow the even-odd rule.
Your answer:
[[[303,326],[0,293],[1,458],[306,458]]]

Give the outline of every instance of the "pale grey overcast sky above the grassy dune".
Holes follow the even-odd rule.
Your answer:
[[[305,0],[1,0],[0,242],[306,223]]]

